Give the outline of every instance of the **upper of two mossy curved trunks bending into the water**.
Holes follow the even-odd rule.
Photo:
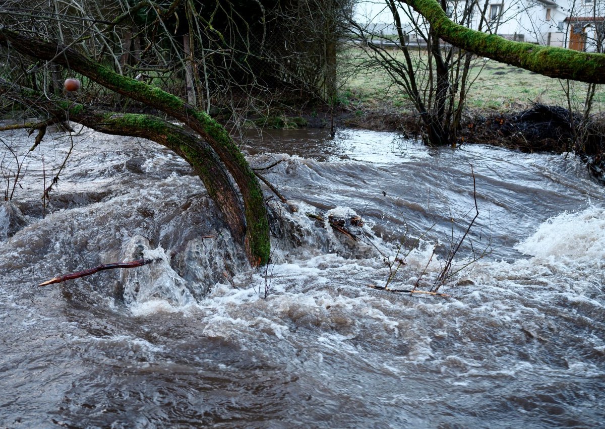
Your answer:
[[[246,218],[244,246],[250,263],[257,266],[269,261],[269,221],[263,191],[245,157],[223,126],[179,97],[117,74],[73,47],[64,47],[5,27],[0,27],[0,45],[10,45],[21,54],[70,68],[116,93],[162,110],[194,129],[214,149],[240,188]]]

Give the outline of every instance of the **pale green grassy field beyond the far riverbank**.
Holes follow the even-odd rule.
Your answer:
[[[341,102],[356,100],[369,108],[393,106],[411,109],[404,91],[393,84],[384,70],[363,67],[361,51],[348,51],[341,64]],[[468,94],[470,110],[511,111],[522,110],[532,102],[567,107],[566,81],[535,74],[489,59],[477,59],[471,71],[473,85]],[[562,86],[563,85],[563,86]],[[583,109],[586,84],[572,82],[572,108]],[[601,85],[603,87],[603,85]],[[597,88],[593,113],[605,111],[605,88]]]

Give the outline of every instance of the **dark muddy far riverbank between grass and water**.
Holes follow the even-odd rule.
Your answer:
[[[605,113],[592,116],[580,128],[579,113],[569,114],[561,106],[542,103],[517,104],[503,111],[475,108],[466,111],[457,133],[455,146],[487,144],[522,152],[571,152],[579,156],[590,173],[605,184]],[[281,122],[280,122],[281,121]],[[328,108],[284,115],[280,121],[267,120],[269,128],[359,128],[371,131],[395,131],[411,139],[422,137],[417,114],[392,103],[367,105],[341,104]],[[286,126],[272,126],[285,124]],[[577,136],[582,136],[578,142]]]

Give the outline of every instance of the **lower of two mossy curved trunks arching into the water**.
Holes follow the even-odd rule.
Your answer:
[[[143,137],[171,149],[189,162],[204,183],[208,195],[223,212],[235,240],[243,243],[246,222],[241,212],[240,197],[214,150],[197,135],[156,116],[110,113],[59,97],[45,97],[1,77],[0,95],[27,106],[37,106],[53,116],[55,122],[71,120],[101,133]]]

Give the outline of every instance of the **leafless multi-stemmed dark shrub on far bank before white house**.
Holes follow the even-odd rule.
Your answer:
[[[456,22],[472,25],[477,10],[475,0],[449,2],[441,6]],[[465,111],[466,94],[473,84],[471,67],[479,62],[471,53],[446,44],[433,28],[411,7],[395,0],[384,1],[392,25],[376,28],[351,19],[352,42],[367,54],[363,67],[381,68],[398,88],[404,91],[417,112],[424,131],[422,137],[430,145],[452,145]],[[478,26],[488,30],[497,21],[486,16],[488,2],[479,10]]]

